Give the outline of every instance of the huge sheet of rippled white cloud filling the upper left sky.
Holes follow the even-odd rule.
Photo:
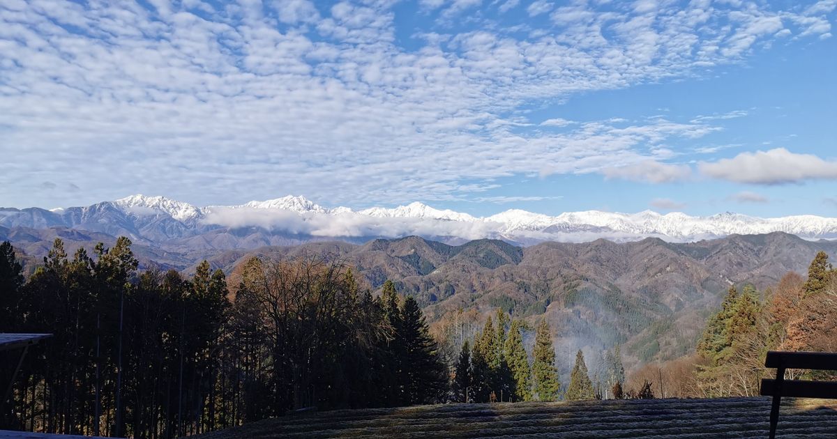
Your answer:
[[[476,19],[442,30],[419,23],[409,32],[435,38],[407,50],[389,2],[158,3],[3,3],[0,156],[15,160],[0,199],[54,205],[146,191],[237,202],[244,190],[393,203],[466,199],[512,175],[619,164],[627,172],[660,145],[718,128],[658,118],[556,133],[521,125],[522,115],[574,94],[738,62],[752,43],[774,38],[766,32],[776,26],[760,20],[819,29],[815,19],[831,10],[575,5],[550,14],[557,26],[524,32]],[[480,3],[427,7],[468,20]],[[730,38],[738,33],[755,38]],[[661,166],[642,178],[688,175]],[[85,190],[59,184],[54,196],[39,194],[54,198],[33,200],[27,189],[42,181]]]

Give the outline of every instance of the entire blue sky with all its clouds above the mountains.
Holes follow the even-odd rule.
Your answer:
[[[837,0],[0,0],[0,206],[837,217]]]

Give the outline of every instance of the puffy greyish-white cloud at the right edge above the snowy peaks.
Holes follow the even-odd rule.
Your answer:
[[[837,161],[795,154],[784,148],[742,152],[731,159],[701,162],[698,168],[717,179],[761,185],[837,179]]]

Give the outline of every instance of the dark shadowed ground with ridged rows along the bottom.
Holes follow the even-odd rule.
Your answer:
[[[767,398],[446,404],[285,416],[203,437],[756,438],[768,436],[769,413]],[[783,402],[778,437],[837,437],[837,403]]]

